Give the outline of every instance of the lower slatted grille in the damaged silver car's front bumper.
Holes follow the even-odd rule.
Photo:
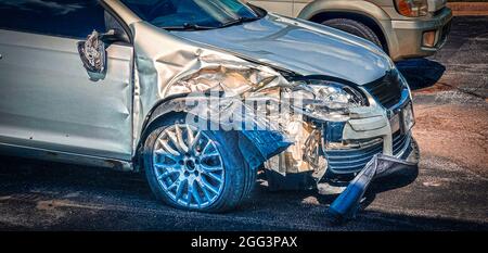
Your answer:
[[[407,159],[411,151],[412,137],[397,131],[393,136],[394,155]],[[362,149],[328,150],[329,169],[335,174],[350,174],[361,170],[375,154],[383,153],[383,142]]]

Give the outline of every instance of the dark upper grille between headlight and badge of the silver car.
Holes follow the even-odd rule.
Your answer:
[[[390,109],[400,102],[403,84],[398,71],[395,69],[383,78],[364,85],[364,88],[381,105]]]

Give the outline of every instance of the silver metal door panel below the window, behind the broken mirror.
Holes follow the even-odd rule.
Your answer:
[[[108,47],[93,81],[79,40],[0,30],[0,142],[130,160],[131,47]]]

